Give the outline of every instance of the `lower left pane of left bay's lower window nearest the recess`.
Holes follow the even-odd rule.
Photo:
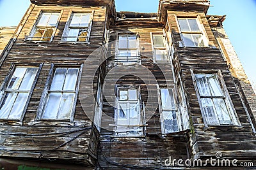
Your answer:
[[[47,103],[44,109],[44,115],[42,118],[45,119],[56,119],[58,108],[60,108],[61,93],[50,93],[48,95]]]

